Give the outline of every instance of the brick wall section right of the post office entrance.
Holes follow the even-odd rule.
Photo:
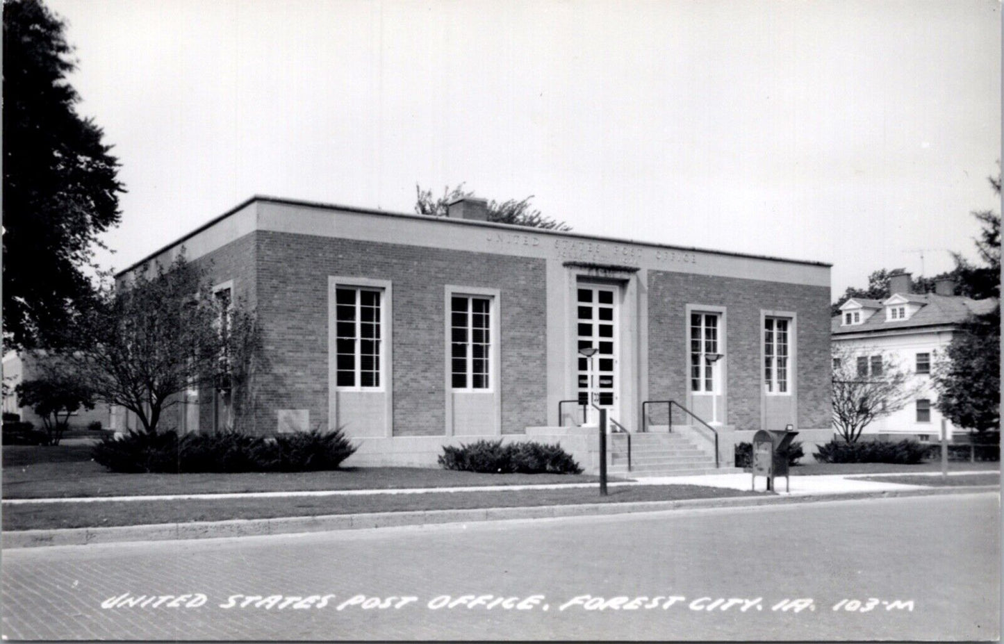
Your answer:
[[[650,271],[650,398],[687,399],[687,304],[727,308],[727,424],[760,428],[760,311],[771,309],[797,314],[796,426],[830,425],[828,288]]]

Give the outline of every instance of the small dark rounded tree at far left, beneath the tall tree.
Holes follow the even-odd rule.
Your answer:
[[[42,418],[48,444],[58,445],[69,416],[84,409],[94,408],[94,392],[66,370],[66,365],[50,357],[40,357],[45,363],[42,375],[25,380],[15,387],[18,403],[31,407]]]

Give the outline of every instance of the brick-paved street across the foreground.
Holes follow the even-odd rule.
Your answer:
[[[999,523],[993,493],[5,551],[3,634],[986,640]]]

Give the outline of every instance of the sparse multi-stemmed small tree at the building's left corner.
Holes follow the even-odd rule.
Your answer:
[[[72,337],[62,338],[64,359],[98,399],[135,413],[149,433],[190,387],[237,392],[240,415],[260,353],[252,313],[214,293],[184,255],[133,275],[118,289],[102,287],[77,316]]]

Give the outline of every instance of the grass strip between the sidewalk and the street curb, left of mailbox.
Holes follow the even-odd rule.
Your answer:
[[[589,488],[513,492],[353,495],[292,499],[231,499],[226,501],[26,504],[4,507],[3,530],[139,526],[175,522],[311,517],[416,510],[616,504],[636,501],[751,497],[762,494],[701,486],[633,486],[610,488],[607,497],[600,497],[596,489]]]

